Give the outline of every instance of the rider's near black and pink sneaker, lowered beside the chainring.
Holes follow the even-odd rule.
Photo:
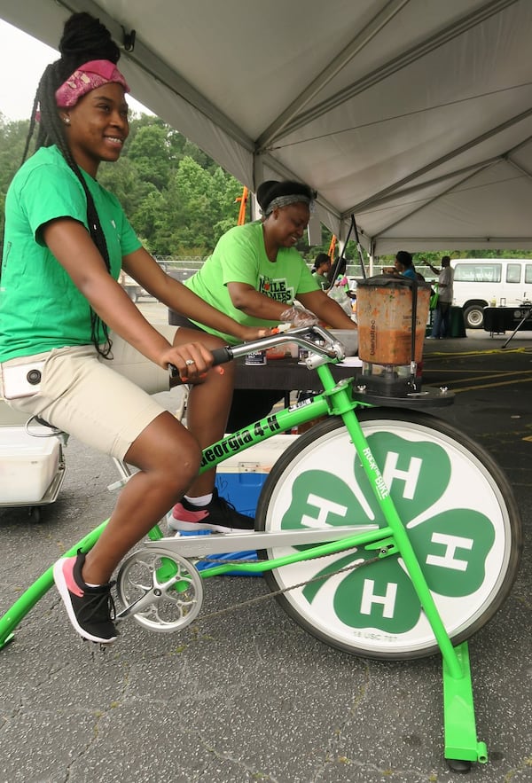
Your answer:
[[[82,580],[83,552],[61,558],[53,567],[53,580],[66,607],[74,629],[90,642],[110,645],[117,637],[113,624],[112,583],[89,587]]]

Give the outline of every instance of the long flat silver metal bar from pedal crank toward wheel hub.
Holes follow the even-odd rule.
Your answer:
[[[212,536],[176,536],[145,543],[146,549],[164,546],[182,557],[203,557],[224,552],[246,552],[273,546],[326,544],[364,533],[377,533],[378,525],[353,525],[328,529],[283,530],[278,533],[223,533]],[[379,536],[375,536],[377,539]]]

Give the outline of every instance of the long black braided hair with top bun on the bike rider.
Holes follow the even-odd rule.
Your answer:
[[[90,237],[106,262],[107,270],[110,271],[111,264],[106,237],[99,221],[94,200],[82,176],[82,171],[74,161],[74,156],[68,146],[64,125],[59,119],[55,93],[78,67],[90,60],[107,59],[116,64],[120,59],[120,50],[116,43],[113,42],[107,28],[98,19],[95,19],[89,13],[82,12],[74,13],[66,20],[59,43],[59,52],[61,54],[60,59],[45,68],[37,87],[21,162],[23,163],[26,160],[31,138],[35,131],[37,111],[39,111],[40,117],[35,139],[35,152],[40,147],[57,145],[69,168],[74,171],[75,176],[82,184],[87,199],[87,223]],[[103,348],[100,346],[98,339],[100,327],[106,338]],[[92,308],[90,308],[90,340],[101,356],[109,358],[112,346],[109,330]]]

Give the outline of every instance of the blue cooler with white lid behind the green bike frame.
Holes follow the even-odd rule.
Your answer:
[[[237,511],[253,517],[271,468],[297,437],[273,435],[268,441],[257,443],[222,462],[216,474],[220,495],[229,500]]]

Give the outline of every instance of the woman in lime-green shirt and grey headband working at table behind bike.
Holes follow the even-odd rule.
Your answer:
[[[320,320],[332,328],[356,329],[356,324],[320,288],[295,247],[309,223],[314,195],[309,185],[299,182],[260,184],[256,198],[262,219],[234,226],[223,234],[213,254],[184,285],[242,325],[289,322],[301,326]],[[231,344],[235,342],[231,334],[213,329],[200,318],[192,320],[197,328]],[[175,317],[173,322],[192,325]],[[266,416],[284,394],[282,389],[235,389],[228,431]]]

